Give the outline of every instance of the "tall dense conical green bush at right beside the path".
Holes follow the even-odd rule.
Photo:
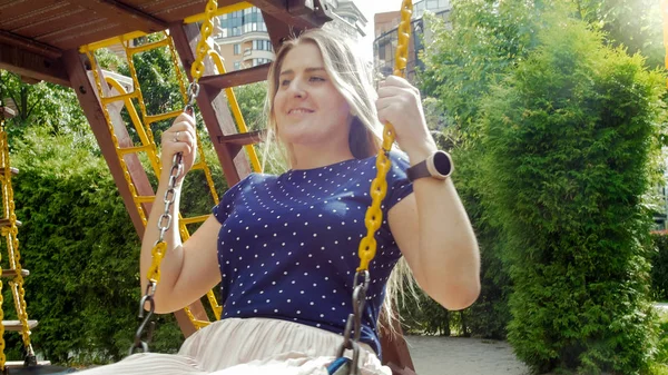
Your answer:
[[[659,75],[564,14],[485,101],[484,191],[504,231],[509,341],[537,372],[647,369],[648,191]]]

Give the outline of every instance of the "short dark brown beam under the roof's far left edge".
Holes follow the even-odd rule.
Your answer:
[[[37,80],[70,86],[67,69],[60,58],[40,55],[35,50],[2,41],[0,41],[0,69]]]

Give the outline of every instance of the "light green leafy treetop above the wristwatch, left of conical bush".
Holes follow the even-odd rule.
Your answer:
[[[421,89],[439,99],[449,124],[472,132],[480,98],[536,45],[542,7],[540,1],[469,0],[453,3],[450,27],[429,18]]]

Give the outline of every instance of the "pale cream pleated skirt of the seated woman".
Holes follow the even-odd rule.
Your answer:
[[[343,337],[287,320],[228,318],[188,337],[178,354],[140,353],[77,374],[327,375]],[[392,375],[361,344],[362,375]]]

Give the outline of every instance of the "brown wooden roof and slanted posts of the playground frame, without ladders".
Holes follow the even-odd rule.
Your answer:
[[[217,2],[220,13],[257,7],[275,50],[283,38],[332,20],[324,0]],[[136,195],[151,196],[153,187],[136,155],[125,155],[125,166],[120,164],[117,148],[131,148],[132,141],[122,119],[116,116],[111,119],[116,132],[116,144],[112,142],[102,105],[88,75],[90,65],[80,48],[136,31],[153,33],[168,29],[189,75],[195,60],[193,46],[199,38],[199,28],[193,22],[204,13],[206,3],[207,0],[0,0],[0,69],[18,73],[27,82],[45,80],[75,89],[139,237],[144,234],[140,210],[150,211],[153,199],[143,203],[139,209],[134,199]],[[222,75],[205,72],[199,80],[203,86],[197,98],[199,111],[229,186],[250,172],[248,159],[240,150],[244,145],[256,142],[258,136],[237,134],[227,100],[218,93],[225,88],[264,81],[267,72],[268,65],[264,65]],[[131,178],[132,189],[124,177],[126,174]],[[202,302],[189,307],[198,319],[208,319]],[[177,312],[176,316],[186,336],[195,332],[184,312]],[[401,327],[396,329],[400,332]],[[382,338],[384,362],[392,363],[394,374],[414,374],[409,371],[414,366],[405,342],[391,336]]]

